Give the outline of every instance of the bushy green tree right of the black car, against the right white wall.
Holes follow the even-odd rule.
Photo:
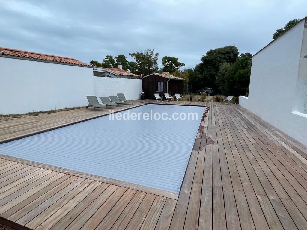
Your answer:
[[[223,63],[218,71],[216,83],[225,95],[246,95],[251,78],[252,55],[240,54],[235,63]]]

